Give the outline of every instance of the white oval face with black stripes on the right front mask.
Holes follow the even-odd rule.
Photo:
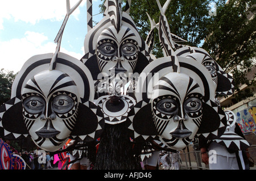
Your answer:
[[[195,137],[202,119],[203,95],[197,82],[183,73],[168,73],[152,91],[154,124],[169,148],[183,149]]]

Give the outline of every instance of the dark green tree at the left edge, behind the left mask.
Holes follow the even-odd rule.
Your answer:
[[[13,71],[0,70],[0,106],[11,98],[11,85],[15,76]]]

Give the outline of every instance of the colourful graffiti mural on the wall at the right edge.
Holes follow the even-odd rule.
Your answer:
[[[243,111],[237,112],[237,124],[243,133],[256,132],[256,107],[249,107]]]

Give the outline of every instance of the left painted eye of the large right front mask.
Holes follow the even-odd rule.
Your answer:
[[[156,110],[166,115],[172,115],[177,111],[177,102],[174,99],[166,98],[156,103]]]

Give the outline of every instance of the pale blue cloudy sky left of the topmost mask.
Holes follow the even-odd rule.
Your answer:
[[[70,0],[71,7],[79,0]],[[93,21],[103,18],[93,0]],[[67,13],[65,0],[0,1],[0,70],[17,73],[30,57],[54,53],[55,37]],[[98,15],[97,15],[98,14]],[[86,0],[69,16],[60,52],[81,59],[87,33]]]

